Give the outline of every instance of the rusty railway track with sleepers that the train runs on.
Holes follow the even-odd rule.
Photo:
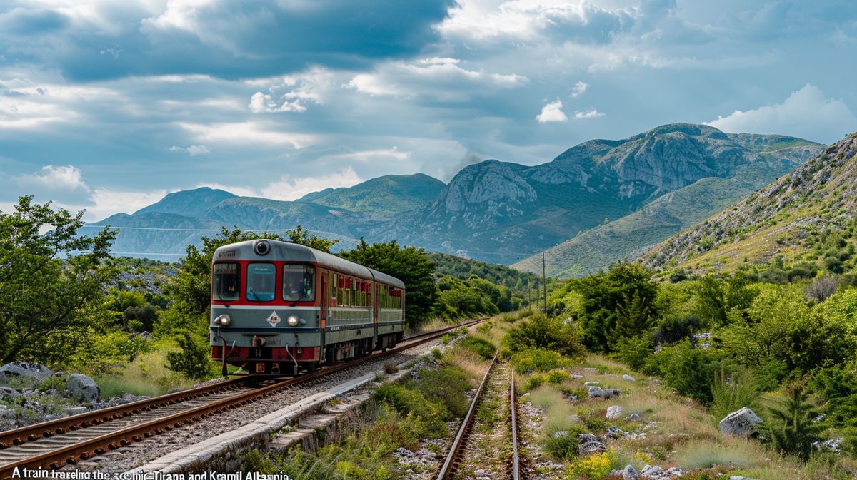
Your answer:
[[[74,465],[119,447],[158,436],[204,418],[247,406],[290,388],[324,382],[327,376],[358,365],[374,363],[432,341],[446,332],[470,326],[471,320],[445,329],[411,336],[386,353],[335,364],[312,374],[273,384],[251,387],[246,378],[234,378],[183,392],[140,400],[123,406],[58,418],[21,429],[0,432],[0,479],[12,477],[15,468],[57,469]]]

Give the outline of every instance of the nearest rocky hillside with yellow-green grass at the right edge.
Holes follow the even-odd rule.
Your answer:
[[[794,261],[806,255],[807,260],[824,258],[826,268],[834,270],[827,264],[835,266],[842,261],[842,252],[849,252],[844,246],[854,235],[855,212],[857,133],[818,152],[758,193],[662,242],[641,261],[653,268],[732,270],[777,255]],[[825,242],[834,245],[828,248]]]

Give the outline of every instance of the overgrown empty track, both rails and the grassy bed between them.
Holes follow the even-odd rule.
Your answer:
[[[508,415],[504,415],[506,406]],[[495,354],[437,478],[518,480],[520,471],[514,375],[510,367],[497,362]]]

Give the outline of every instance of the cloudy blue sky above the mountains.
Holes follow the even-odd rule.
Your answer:
[[[0,210],[449,181],[676,121],[857,131],[853,0],[3,0]]]

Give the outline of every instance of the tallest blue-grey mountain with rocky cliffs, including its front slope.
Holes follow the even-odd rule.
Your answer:
[[[696,193],[691,189],[679,195],[688,199],[680,208],[693,211],[668,219],[667,228],[655,228],[645,242],[632,232],[631,243],[618,250],[597,246],[603,251],[597,261],[576,267],[573,257],[586,253],[578,250],[557,257],[553,269],[566,275],[597,270],[740,199],[794,169],[821,146],[782,136],[730,136],[714,127],[675,123],[628,139],[591,140],[534,167],[487,160],[462,169],[430,204],[370,230],[368,236],[510,264],[631,215],[665,193],[703,179],[736,179],[737,185],[724,185],[728,191],[716,193],[721,198],[708,204],[696,202],[692,195],[705,187],[716,189],[710,181],[701,183]],[[737,188],[746,182],[745,176],[750,184]],[[668,215],[668,209],[662,214]],[[650,227],[645,214],[634,220],[636,227],[624,225],[619,230]],[[610,241],[608,237],[604,241]],[[541,272],[540,263],[539,256],[537,270],[530,268],[531,263],[518,266]]]

